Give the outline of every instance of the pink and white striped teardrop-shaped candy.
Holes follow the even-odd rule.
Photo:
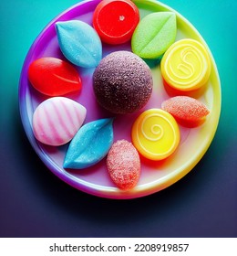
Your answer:
[[[43,101],[33,114],[33,133],[48,145],[67,144],[86,118],[87,109],[65,97]]]

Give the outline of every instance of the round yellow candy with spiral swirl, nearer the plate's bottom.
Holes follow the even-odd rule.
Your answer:
[[[150,109],[142,112],[133,123],[131,137],[141,155],[151,160],[161,160],[177,148],[180,130],[169,112]]]

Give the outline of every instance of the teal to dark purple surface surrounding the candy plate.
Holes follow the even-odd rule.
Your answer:
[[[26,53],[46,24],[77,0],[0,2],[0,237],[237,237],[237,2],[164,0],[211,48],[222,114],[201,162],[149,197],[114,201],[67,186],[38,159],[18,111]]]

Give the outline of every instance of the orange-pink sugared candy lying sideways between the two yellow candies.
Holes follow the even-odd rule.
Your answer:
[[[185,126],[200,124],[209,114],[204,103],[188,96],[176,96],[163,101],[161,108]]]

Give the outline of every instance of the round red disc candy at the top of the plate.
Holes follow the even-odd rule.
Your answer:
[[[139,9],[130,0],[103,0],[93,15],[98,36],[112,45],[129,41],[138,23]]]

